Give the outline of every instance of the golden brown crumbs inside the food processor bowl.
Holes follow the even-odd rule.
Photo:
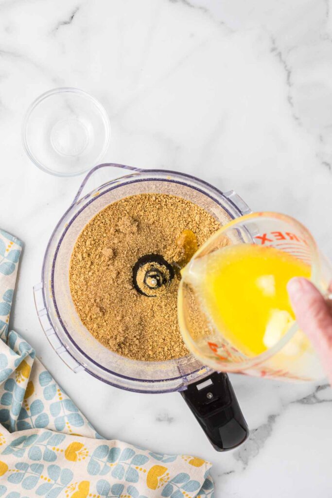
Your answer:
[[[173,267],[218,228],[207,211],[169,194],[138,194],[107,206],[83,229],[71,257],[70,289],[82,323],[133,360],[186,356]]]

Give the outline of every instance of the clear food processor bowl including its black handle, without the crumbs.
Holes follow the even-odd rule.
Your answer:
[[[88,180],[100,168],[119,168],[124,175],[83,195]],[[85,177],[47,245],[41,282],[34,286],[41,326],[56,353],[74,372],[85,370],[103,382],[129,391],[179,391],[215,449],[224,451],[235,448],[246,439],[248,428],[225,373],[214,372],[191,355],[164,362],[124,358],[90,334],[72,301],[69,264],[83,228],[109,204],[143,193],[182,197],[205,209],[221,224],[250,212],[234,191],[222,193],[188,174],[143,170],[112,163],[94,167]]]

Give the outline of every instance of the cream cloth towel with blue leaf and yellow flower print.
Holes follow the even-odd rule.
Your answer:
[[[213,498],[210,463],[104,440],[8,332],[21,249],[0,230],[0,497]]]

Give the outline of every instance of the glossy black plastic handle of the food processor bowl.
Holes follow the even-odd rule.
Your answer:
[[[249,430],[226,373],[189,384],[181,395],[217,451],[242,444]]]

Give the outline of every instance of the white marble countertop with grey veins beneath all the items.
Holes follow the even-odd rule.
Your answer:
[[[82,177],[38,170],[20,126],[39,94],[82,88],[110,116],[106,160],[234,189],[253,210],[304,222],[331,257],[330,9],[330,0],[0,0],[0,227],[25,244],[11,327],[103,435],[210,460],[218,498],[331,497],[331,388],[232,376],[251,433],[219,454],[178,393],[72,373],[41,330],[32,286]]]

